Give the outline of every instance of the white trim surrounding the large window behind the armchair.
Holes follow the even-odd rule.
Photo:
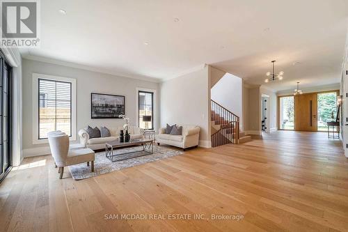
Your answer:
[[[43,75],[33,73],[33,144],[48,144],[48,139],[39,139],[39,79],[47,79],[55,82],[68,82],[71,84],[71,137],[70,141],[77,139],[77,124],[76,124],[76,79],[68,77],[57,77],[52,75]]]

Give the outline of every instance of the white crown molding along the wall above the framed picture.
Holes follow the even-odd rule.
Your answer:
[[[61,65],[61,66],[65,66],[65,67],[70,67],[70,68],[78,68],[81,70],[88,70],[88,71],[92,71],[92,72],[100,72],[100,73],[104,73],[107,75],[113,75],[113,76],[117,76],[117,77],[126,77],[126,78],[131,78],[131,79],[140,79],[142,81],[146,81],[146,82],[155,82],[155,83],[159,83],[161,82],[161,79],[157,79],[154,77],[145,77],[145,76],[141,76],[141,75],[126,75],[123,73],[119,73],[119,72],[113,72],[111,70],[106,70],[103,68],[95,68],[95,67],[90,67],[88,65],[81,65],[78,63],[71,63],[68,61],[61,61],[61,60],[57,60],[57,59],[51,59],[48,57],[44,57],[44,56],[34,56],[31,55],[30,52],[28,53],[22,53],[22,58],[23,59],[28,59],[31,61],[39,61],[39,62],[43,62],[43,63],[51,63],[51,64],[55,64],[55,65]]]

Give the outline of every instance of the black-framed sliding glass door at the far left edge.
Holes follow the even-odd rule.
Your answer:
[[[11,68],[3,56],[0,57],[0,180],[11,166]]]

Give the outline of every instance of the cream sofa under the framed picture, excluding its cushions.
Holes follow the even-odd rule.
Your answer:
[[[90,148],[92,150],[100,150],[105,148],[105,143],[107,141],[113,141],[120,137],[120,130],[123,127],[107,127],[110,131],[111,137],[100,137],[100,138],[89,138],[89,134],[85,129],[79,130],[80,144],[84,145],[85,148]],[[143,139],[143,129],[135,126],[128,127],[128,133],[130,134],[130,139]]]

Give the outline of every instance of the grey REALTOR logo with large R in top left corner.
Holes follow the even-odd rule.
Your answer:
[[[1,0],[1,47],[38,47],[39,1]]]

